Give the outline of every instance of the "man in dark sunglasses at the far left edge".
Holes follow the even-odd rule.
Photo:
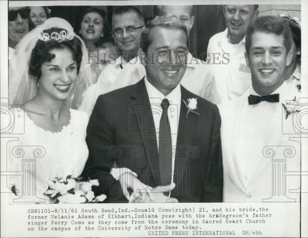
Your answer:
[[[9,7],[8,12],[8,46],[9,61],[14,56],[14,47],[29,32],[30,8],[27,7]]]

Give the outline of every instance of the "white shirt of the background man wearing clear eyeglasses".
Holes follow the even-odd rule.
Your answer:
[[[121,56],[116,58],[115,63],[108,64],[99,75],[97,82],[87,88],[78,110],[85,111],[90,117],[98,96],[108,92],[107,88],[117,79],[122,67],[126,64],[127,62]]]

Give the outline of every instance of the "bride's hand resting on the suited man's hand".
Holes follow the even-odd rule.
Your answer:
[[[148,200],[153,200],[153,194],[151,192],[151,187],[148,185],[141,183],[139,179],[135,178],[132,173],[125,172],[120,175],[119,181],[122,187],[123,194],[127,198],[127,200],[130,200],[130,195],[128,192],[128,188],[132,188],[133,190],[133,200],[139,199],[141,201],[144,201],[146,198]]]

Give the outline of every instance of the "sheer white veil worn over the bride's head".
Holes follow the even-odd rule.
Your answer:
[[[83,93],[93,84],[92,72],[88,63],[88,54],[83,40],[74,33],[69,22],[62,18],[49,18],[43,25],[38,26],[27,33],[17,44],[14,50],[14,57],[9,62],[9,101],[19,104],[26,103],[37,94],[37,80],[29,75],[29,64],[32,50],[34,49],[39,35],[43,30],[58,27],[74,34],[82,44],[83,56],[75,87],[67,98],[67,107],[77,109],[80,105]]]

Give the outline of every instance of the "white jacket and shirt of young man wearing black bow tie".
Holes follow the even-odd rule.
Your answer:
[[[285,119],[282,103],[287,105],[286,100],[293,100],[294,96],[299,99],[297,88],[283,83],[271,94],[276,93],[279,93],[278,103],[262,101],[249,105],[248,96],[257,95],[251,87],[241,97],[218,105],[222,121],[224,202],[262,202],[271,197],[271,158],[263,156],[263,148],[299,145],[282,133],[282,128],[289,124],[292,127],[292,115]],[[282,156],[278,149],[276,154]],[[295,157],[288,159],[287,170],[292,170],[292,166],[296,169],[296,161]]]

